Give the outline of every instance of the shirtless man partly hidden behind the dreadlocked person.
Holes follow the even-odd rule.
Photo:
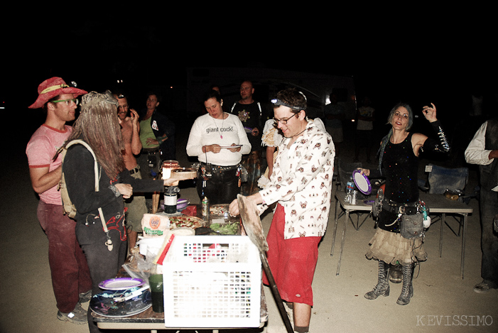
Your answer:
[[[129,109],[128,99],[123,94],[114,94],[114,97],[119,103],[118,118],[124,141],[124,164],[132,177],[141,179],[139,164],[135,158],[135,155],[140,154],[142,148],[139,136],[139,114],[134,109]],[[130,111],[129,116],[128,111]],[[135,247],[138,234],[142,231],[142,217],[148,212],[145,202],[143,195],[136,194],[124,201],[124,206],[128,209],[126,212],[126,234],[129,249]]]

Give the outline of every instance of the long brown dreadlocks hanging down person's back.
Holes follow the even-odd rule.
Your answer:
[[[80,116],[75,121],[66,144],[82,138],[92,148],[97,162],[110,179],[125,169],[121,151],[124,143],[117,117],[117,99],[107,90],[104,94],[90,92],[82,97]]]

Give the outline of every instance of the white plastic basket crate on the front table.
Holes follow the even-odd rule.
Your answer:
[[[259,327],[261,258],[248,236],[175,236],[163,279],[166,327]]]

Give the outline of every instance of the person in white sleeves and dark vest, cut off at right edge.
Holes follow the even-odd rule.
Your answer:
[[[493,222],[498,223],[498,119],[480,126],[465,149],[465,160],[480,165],[482,282],[474,291],[487,293],[498,288],[498,230],[493,231]]]

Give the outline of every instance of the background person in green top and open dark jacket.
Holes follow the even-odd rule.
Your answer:
[[[147,94],[146,109],[140,114],[140,141],[142,152],[138,158],[141,175],[155,178],[163,160],[175,160],[175,124],[158,111],[161,97],[155,92]]]

